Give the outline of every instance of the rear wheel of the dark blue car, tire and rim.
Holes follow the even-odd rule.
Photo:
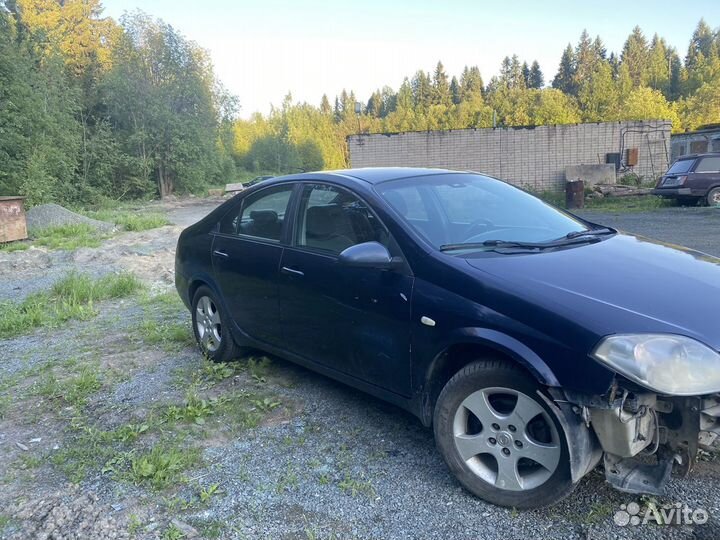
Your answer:
[[[227,362],[239,356],[230,320],[215,293],[199,287],[192,301],[193,334],[200,351],[213,362]]]

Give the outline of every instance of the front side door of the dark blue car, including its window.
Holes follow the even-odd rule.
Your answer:
[[[400,255],[357,195],[335,185],[303,185],[292,242],[280,265],[283,339],[308,360],[409,395],[409,268],[349,268],[337,262],[344,249],[373,240]]]

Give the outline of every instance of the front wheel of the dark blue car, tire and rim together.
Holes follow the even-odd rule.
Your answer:
[[[563,428],[519,367],[473,362],[445,385],[435,406],[435,441],[450,470],[490,503],[539,508],[574,489]]]

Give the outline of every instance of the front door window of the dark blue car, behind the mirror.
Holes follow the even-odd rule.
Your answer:
[[[337,254],[371,241],[389,248],[390,235],[360,199],[345,190],[317,184],[303,191],[295,240],[298,246]]]

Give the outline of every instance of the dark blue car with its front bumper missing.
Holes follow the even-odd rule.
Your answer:
[[[182,232],[175,276],[211,359],[261,349],[411,411],[495,504],[555,503],[600,461],[660,493],[720,432],[720,259],[487,176],[268,180]]]

